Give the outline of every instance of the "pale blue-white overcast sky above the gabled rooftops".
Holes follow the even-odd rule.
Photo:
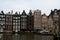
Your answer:
[[[0,0],[0,11],[3,10],[5,13],[11,10],[20,13],[25,10],[28,13],[29,10],[36,9],[49,15],[51,9],[60,9],[60,0]]]

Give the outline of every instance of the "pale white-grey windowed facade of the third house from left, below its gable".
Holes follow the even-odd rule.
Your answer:
[[[13,17],[13,31],[20,31],[20,17]]]

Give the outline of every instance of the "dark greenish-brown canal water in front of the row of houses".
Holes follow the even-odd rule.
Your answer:
[[[40,35],[34,33],[0,34],[0,40],[53,40],[53,35]]]

